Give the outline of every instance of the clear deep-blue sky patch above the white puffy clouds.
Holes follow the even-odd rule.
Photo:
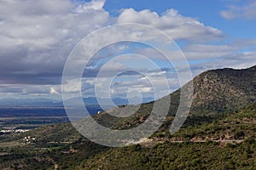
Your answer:
[[[161,1],[125,1],[109,0],[104,8],[110,14],[119,14],[122,8],[135,8],[136,10],[150,9],[158,14],[164,13],[168,8],[175,8],[179,14],[196,18],[207,26],[218,27],[224,31],[227,37],[231,38],[255,38],[256,30],[255,20],[226,20],[220,11],[229,8],[229,6],[242,6],[246,1],[236,0],[161,0]]]

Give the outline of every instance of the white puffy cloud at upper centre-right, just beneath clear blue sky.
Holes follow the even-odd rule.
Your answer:
[[[133,8],[128,8],[119,15],[118,23],[139,23],[154,26],[175,40],[212,41],[212,39],[222,37],[222,31],[212,26],[204,26],[203,23],[194,18],[178,14],[175,9],[168,9],[164,14],[159,15],[148,9],[136,11]]]

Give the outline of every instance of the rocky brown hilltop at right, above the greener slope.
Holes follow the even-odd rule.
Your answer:
[[[256,65],[243,70],[206,71],[193,82],[194,114],[234,111],[256,99]]]

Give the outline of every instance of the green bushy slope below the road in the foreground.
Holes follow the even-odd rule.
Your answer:
[[[91,157],[77,169],[254,169],[256,142],[241,144],[207,142],[173,144],[152,148],[139,144],[108,150]]]

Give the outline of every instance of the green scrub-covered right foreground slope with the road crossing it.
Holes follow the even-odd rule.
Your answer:
[[[77,169],[254,169],[256,103],[215,118],[151,144],[99,153]]]

